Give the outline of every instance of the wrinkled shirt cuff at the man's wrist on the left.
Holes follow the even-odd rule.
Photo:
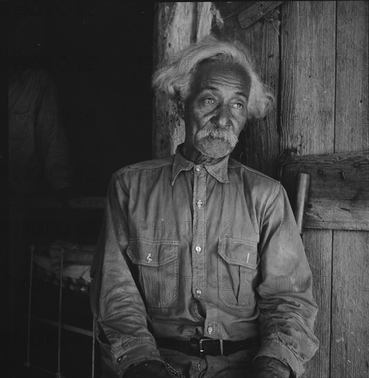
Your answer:
[[[141,342],[129,348],[112,348],[109,344],[100,342],[98,338],[97,340],[100,344],[104,365],[120,378],[132,364],[148,360],[164,363],[164,359],[154,344]]]

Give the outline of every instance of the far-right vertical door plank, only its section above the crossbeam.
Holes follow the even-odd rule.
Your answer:
[[[368,1],[337,2],[335,152],[369,149]]]

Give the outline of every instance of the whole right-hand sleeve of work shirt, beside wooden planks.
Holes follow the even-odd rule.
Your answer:
[[[279,359],[299,377],[319,345],[313,334],[317,304],[300,232],[280,184],[265,211],[259,247],[261,346],[255,359]]]

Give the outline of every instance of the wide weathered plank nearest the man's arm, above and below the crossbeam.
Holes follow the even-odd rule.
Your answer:
[[[333,153],[335,107],[335,2],[281,5],[280,148],[298,155]],[[320,57],[326,57],[322,59]],[[305,230],[304,245],[319,306],[320,348],[304,377],[329,377],[331,337],[331,230]]]

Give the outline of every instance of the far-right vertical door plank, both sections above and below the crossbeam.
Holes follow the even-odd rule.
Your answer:
[[[335,152],[368,149],[368,2],[337,1]],[[331,377],[369,377],[369,233],[333,233]]]

